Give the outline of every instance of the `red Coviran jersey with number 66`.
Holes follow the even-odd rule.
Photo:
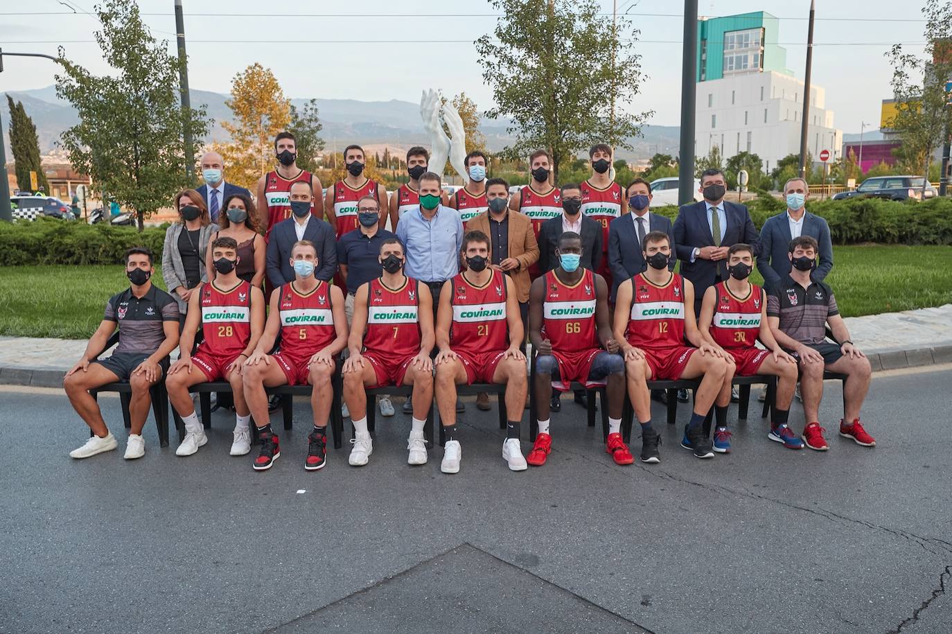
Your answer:
[[[595,323],[595,277],[585,269],[575,285],[564,284],[555,270],[545,273],[543,330],[552,349],[581,352],[602,347]]]

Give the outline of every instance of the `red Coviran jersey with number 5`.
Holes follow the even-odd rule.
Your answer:
[[[283,354],[307,358],[337,338],[327,282],[318,282],[307,294],[297,291],[293,282],[282,285],[280,291],[280,350]]]

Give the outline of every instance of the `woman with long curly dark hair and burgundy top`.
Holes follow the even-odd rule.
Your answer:
[[[265,280],[265,239],[258,228],[258,212],[254,203],[245,194],[231,194],[222,204],[218,216],[220,229],[208,241],[205,267],[208,279],[215,279],[215,267],[211,262],[211,243],[218,238],[233,238],[238,243],[238,277],[252,287],[261,287]]]

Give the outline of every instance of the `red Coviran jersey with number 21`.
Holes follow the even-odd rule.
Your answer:
[[[453,324],[449,346],[470,355],[486,354],[509,347],[506,322],[506,274],[493,270],[485,287],[475,287],[463,273],[452,279],[450,304]]]

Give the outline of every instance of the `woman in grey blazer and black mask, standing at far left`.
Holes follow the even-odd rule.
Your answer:
[[[208,282],[205,253],[213,230],[205,199],[194,189],[183,189],[175,196],[179,219],[166,230],[162,247],[162,279],[169,295],[178,300],[185,318],[193,288]]]

